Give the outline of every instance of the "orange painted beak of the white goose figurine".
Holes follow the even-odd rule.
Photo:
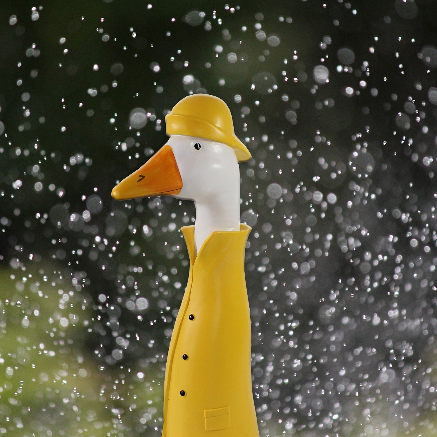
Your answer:
[[[179,194],[181,188],[182,178],[173,150],[166,144],[137,171],[114,187],[111,195],[116,200],[128,200]]]

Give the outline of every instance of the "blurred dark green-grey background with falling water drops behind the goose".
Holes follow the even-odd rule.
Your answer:
[[[111,189],[192,93],[253,156],[260,435],[437,435],[436,46],[434,0],[2,2],[0,435],[161,435],[194,205]]]

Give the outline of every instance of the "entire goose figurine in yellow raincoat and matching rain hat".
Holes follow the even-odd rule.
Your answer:
[[[118,200],[194,201],[181,231],[190,274],[170,340],[163,437],[258,437],[250,372],[250,312],[239,222],[239,162],[250,152],[218,97],[193,94],[166,115],[170,139],[112,190]]]

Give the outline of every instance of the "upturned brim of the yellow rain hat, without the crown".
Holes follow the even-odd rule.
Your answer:
[[[211,139],[226,144],[234,149],[238,162],[249,161],[252,158],[247,147],[235,134],[229,134],[222,129],[200,118],[190,115],[167,114],[165,117],[166,134],[188,135]]]

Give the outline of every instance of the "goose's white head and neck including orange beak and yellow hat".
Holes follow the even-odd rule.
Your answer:
[[[196,205],[195,245],[218,230],[239,229],[239,161],[250,159],[218,97],[187,96],[166,116],[170,139],[112,190],[127,200],[171,195]]]

